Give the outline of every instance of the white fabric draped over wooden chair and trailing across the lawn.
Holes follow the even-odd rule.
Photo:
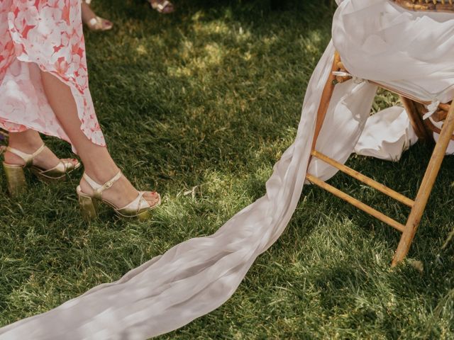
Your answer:
[[[349,72],[430,101],[454,97],[453,33],[452,16],[409,13],[387,0],[345,0],[333,24],[333,42]],[[265,196],[215,234],[177,244],[115,283],[99,285],[54,310],[4,327],[0,339],[147,339],[226,302],[257,256],[282,234],[297,207],[333,52],[330,43],[309,82],[297,137],[275,164]],[[345,162],[355,146],[386,154],[389,147],[383,145],[398,142],[408,147],[414,142],[409,125],[399,118],[402,110],[395,108],[393,118],[384,123],[399,122],[394,132],[408,136],[372,134],[360,139],[375,90],[375,85],[352,80],[336,86],[316,145],[319,151]],[[373,132],[374,125],[367,129]],[[336,173],[317,160],[309,171],[324,180]]]

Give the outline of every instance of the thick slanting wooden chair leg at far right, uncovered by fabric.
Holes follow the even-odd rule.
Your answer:
[[[416,229],[418,229],[421,216],[423,215],[424,209],[428,201],[428,197],[431,194],[433,183],[435,183],[436,176],[440,170],[441,163],[445,157],[446,149],[453,136],[454,132],[454,102],[451,104],[448,115],[441,129],[440,137],[438,142],[433,149],[433,154],[430,162],[428,163],[426,173],[424,174],[423,181],[419,187],[418,194],[416,195],[415,204],[411,208],[409,219],[406,221],[405,230],[397,246],[396,253],[392,259],[392,266],[396,266],[397,263],[402,261],[406,254],[409,252],[411,242],[413,241]]]

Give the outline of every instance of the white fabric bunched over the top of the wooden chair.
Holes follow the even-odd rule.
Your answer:
[[[349,72],[424,101],[454,98],[453,14],[405,11],[387,0],[343,1],[333,42]]]

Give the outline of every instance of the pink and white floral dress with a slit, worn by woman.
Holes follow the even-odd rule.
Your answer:
[[[0,128],[70,142],[49,106],[40,69],[70,86],[81,130],[105,145],[88,87],[80,0],[0,0]]]

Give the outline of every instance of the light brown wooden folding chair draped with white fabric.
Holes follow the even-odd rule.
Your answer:
[[[404,6],[404,8],[411,10],[451,11],[452,13],[454,13],[453,0],[449,1],[438,0],[437,4],[434,4],[433,3],[434,1],[432,0],[430,3],[428,3],[428,1],[414,0],[413,1],[395,0],[395,2],[401,6]],[[330,184],[321,181],[321,179],[317,178],[316,176],[306,174],[306,179],[309,182],[315,184],[316,186],[319,186],[325,189],[326,191],[332,193],[333,195],[338,196],[338,198],[342,198],[343,200],[354,205],[360,210],[363,210],[368,214],[376,217],[378,220],[387,223],[387,225],[394,227],[395,229],[399,230],[399,232],[402,232],[402,237],[400,239],[399,246],[397,246],[394,258],[392,259],[392,266],[396,266],[397,263],[399,263],[405,258],[406,254],[410,249],[411,242],[414,239],[416,229],[419,226],[419,222],[421,221],[421,217],[423,215],[424,209],[426,208],[428,198],[431,194],[433,184],[436,181],[438,171],[440,170],[441,163],[443,162],[443,158],[445,157],[445,152],[446,149],[448,148],[448,144],[450,140],[454,140],[453,137],[454,101],[451,101],[450,103],[440,104],[440,106],[438,106],[438,111],[436,111],[436,113],[432,116],[434,120],[444,122],[443,127],[441,129],[438,129],[430,122],[430,120],[422,119],[423,114],[427,112],[426,107],[424,105],[427,105],[428,103],[420,101],[418,98],[413,97],[410,98],[409,95],[399,93],[399,91],[396,91],[395,89],[389,89],[387,88],[387,86],[377,84],[379,86],[382,86],[384,89],[399,94],[402,103],[404,104],[404,107],[406,109],[406,112],[409,115],[411,125],[413,126],[416,135],[421,140],[432,140],[433,132],[437,132],[440,134],[438,142],[436,142],[436,145],[433,149],[433,154],[426,168],[426,172],[423,176],[421,186],[419,186],[419,191],[416,195],[416,198],[414,200],[411,200],[410,198],[407,198],[406,196],[397,193],[391,188],[388,188],[387,186],[384,186],[383,184],[378,183],[377,181],[374,181],[373,179],[370,179],[369,177],[360,174],[358,171],[350,169],[348,166],[336,162],[336,160],[331,159],[330,157],[316,150],[315,148],[316,141],[317,138],[319,137],[319,133],[323,125],[323,120],[325,118],[326,112],[328,111],[328,105],[331,100],[331,96],[333,95],[334,86],[337,82],[342,82],[349,79],[349,77],[333,75],[333,72],[339,71],[346,72],[345,67],[343,67],[343,63],[341,62],[341,57],[338,55],[337,52],[334,56],[333,67],[331,71],[332,71],[331,76],[328,78],[328,81],[326,82],[326,85],[323,89],[321,103],[319,106],[319,111],[317,113],[316,130],[314,135],[314,142],[312,144],[311,157],[316,157],[321,161],[326,162],[331,166],[334,166],[336,169],[342,171],[343,173],[348,174],[349,176],[355,179],[358,179],[358,181],[361,181],[362,183],[365,183],[368,186],[371,186],[372,188],[381,191],[390,198],[394,198],[400,203],[408,205],[411,208],[411,212],[409,214],[408,219],[406,220],[406,224],[402,225],[396,220],[393,220],[391,217],[384,215],[382,212],[379,212],[374,208],[370,207],[369,205],[362,203],[360,200],[357,200],[352,196],[349,196],[347,193],[344,193],[338,188],[335,188]]]

